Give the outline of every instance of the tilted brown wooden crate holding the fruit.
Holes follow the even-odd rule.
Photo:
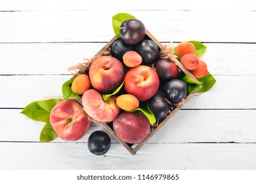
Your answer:
[[[148,30],[146,30],[146,36],[148,36],[152,41],[156,42],[156,44],[159,46],[159,48],[162,48],[163,45]],[[101,55],[102,52],[108,50],[108,48],[110,48],[112,43],[116,40],[117,40],[117,37],[115,36],[95,56]],[[181,69],[181,71],[183,71],[187,76],[189,76],[190,78],[192,78],[193,80],[198,82],[198,80],[186,68],[183,67],[183,65],[181,64],[181,62],[178,59],[173,57],[173,58],[171,58],[171,61],[173,61]],[[137,153],[137,151],[146,143],[146,141],[148,141],[148,139],[150,139],[159,129],[161,129],[161,127],[163,127],[163,125],[165,125],[182,108],[182,106],[187,101],[189,101],[201,88],[202,88],[202,86],[200,88],[198,88],[198,90],[196,90],[195,92],[190,93],[184,99],[184,101],[180,102],[177,105],[177,107],[175,107],[175,109],[172,110],[171,113],[165,118],[165,120],[163,120],[157,127],[152,129],[152,131],[148,134],[148,137],[146,137],[146,139],[144,139],[139,144],[136,144],[135,148],[131,147],[131,145],[133,145],[133,144],[128,144],[127,142],[124,142],[119,137],[117,137],[115,131],[107,123],[100,123],[100,125],[102,125],[111,135],[113,135],[113,137],[118,142],[120,142],[132,155],[135,155]]]

